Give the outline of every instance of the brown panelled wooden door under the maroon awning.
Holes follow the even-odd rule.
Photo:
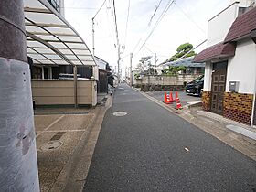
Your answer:
[[[213,63],[210,111],[222,115],[228,61]]]

